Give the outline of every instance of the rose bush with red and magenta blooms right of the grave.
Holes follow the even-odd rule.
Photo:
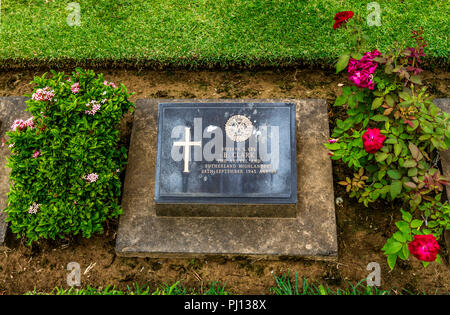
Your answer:
[[[345,23],[335,22],[333,28],[352,27],[353,14],[346,16]],[[336,64],[337,72],[347,70],[353,83],[334,104],[344,106],[347,117],[336,120],[333,138],[325,146],[332,159],[355,171],[353,178],[339,182],[351,197],[366,206],[379,198],[400,199],[409,209],[402,210],[399,231],[383,247],[389,266],[410,254],[426,263],[439,260],[436,240],[450,220],[448,204],[440,203],[449,181],[438,162],[439,150],[450,145],[450,125],[448,114],[433,104],[419,76],[426,47],[422,31],[413,31],[412,47],[405,42],[386,53],[364,52],[361,19],[352,21],[355,45]]]

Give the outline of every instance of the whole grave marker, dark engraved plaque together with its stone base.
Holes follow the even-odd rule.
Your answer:
[[[328,137],[324,100],[138,100],[118,255],[336,259]]]

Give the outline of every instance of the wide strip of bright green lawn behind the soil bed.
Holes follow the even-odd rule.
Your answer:
[[[66,22],[79,2],[81,26]],[[364,17],[362,0],[3,0],[0,66],[126,62],[173,66],[330,64],[348,30],[341,10]],[[422,26],[433,64],[448,65],[450,2],[379,0],[382,25],[364,29],[368,49],[409,39]]]

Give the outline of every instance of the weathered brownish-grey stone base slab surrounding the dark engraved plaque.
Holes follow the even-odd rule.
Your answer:
[[[158,216],[154,203],[159,102],[294,102],[298,203],[293,218]],[[319,99],[158,100],[136,103],[116,252],[119,256],[206,255],[337,258],[327,104]]]

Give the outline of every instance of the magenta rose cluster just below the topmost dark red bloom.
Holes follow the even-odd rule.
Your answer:
[[[348,63],[348,78],[357,87],[368,88],[373,90],[375,84],[373,82],[373,73],[377,69],[378,64],[373,59],[381,53],[378,50],[367,52],[360,60],[350,58]]]

